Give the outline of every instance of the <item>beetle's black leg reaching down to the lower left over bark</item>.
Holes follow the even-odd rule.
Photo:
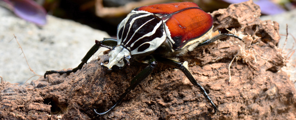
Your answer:
[[[151,74],[151,72],[153,71],[153,69],[157,65],[157,61],[151,56],[147,56],[146,58],[147,58],[146,61],[148,63],[150,63],[150,65],[147,66],[146,68],[144,68],[144,70],[142,70],[138,75],[136,75],[133,78],[133,80],[131,81],[131,85],[125,90],[125,92],[120,96],[119,100],[117,100],[116,103],[109,110],[102,112],[102,113],[97,113],[96,110],[94,109],[94,112],[98,115],[97,117],[106,115],[107,113],[112,111],[121,102],[121,100],[124,97],[126,97],[126,95],[128,95],[128,93],[131,92],[131,90],[135,89],[136,86],[141,83],[141,81],[143,81],[145,78],[147,78],[147,76],[149,76]]]

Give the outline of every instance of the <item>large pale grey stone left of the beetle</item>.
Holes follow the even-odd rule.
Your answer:
[[[48,70],[77,67],[95,40],[110,37],[106,32],[72,20],[48,15],[47,21],[45,26],[38,27],[0,6],[0,76],[4,80],[24,83],[34,75],[13,34],[17,36],[30,67],[39,75],[44,75]]]

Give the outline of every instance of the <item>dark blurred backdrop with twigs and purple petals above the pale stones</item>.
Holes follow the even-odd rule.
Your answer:
[[[10,9],[19,10],[16,15],[27,20],[32,12],[53,15],[63,19],[74,20],[92,28],[106,31],[116,36],[117,25],[134,8],[161,3],[195,2],[205,12],[227,8],[230,4],[248,0],[3,0]],[[281,14],[296,8],[296,0],[253,0],[261,8],[262,15]],[[38,6],[40,5],[40,6]],[[43,7],[43,8],[42,8]],[[34,23],[40,24],[42,18],[36,17]],[[29,20],[30,21],[30,20]],[[45,22],[41,25],[46,24]]]

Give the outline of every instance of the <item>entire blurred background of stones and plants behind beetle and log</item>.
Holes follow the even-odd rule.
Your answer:
[[[185,1],[213,12],[247,0],[0,0],[0,76],[23,84],[48,70],[75,68],[96,39],[116,38],[117,25],[132,9]],[[261,8],[262,20],[280,23],[283,35],[288,24],[289,33],[296,36],[296,0],[253,1]],[[285,36],[281,37],[283,44]],[[288,40],[287,48],[293,50],[296,41]],[[93,59],[98,54],[102,53]]]

